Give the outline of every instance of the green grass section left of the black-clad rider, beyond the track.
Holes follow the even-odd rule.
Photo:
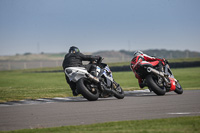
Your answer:
[[[0,101],[72,96],[64,73],[0,72]]]

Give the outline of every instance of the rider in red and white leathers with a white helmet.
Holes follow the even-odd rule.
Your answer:
[[[165,59],[160,59],[160,58],[155,58],[155,57],[151,57],[148,56],[146,54],[144,54],[142,51],[135,51],[133,53],[133,59],[131,60],[131,69],[135,74],[135,77],[138,79],[138,83],[140,88],[144,88],[146,86],[145,83],[143,83],[143,79],[140,77],[140,75],[137,74],[136,70],[137,70],[137,64],[141,63],[141,64],[147,64],[147,63],[151,63],[153,66],[158,66],[159,71],[163,71],[162,70],[162,66],[164,65],[164,61]]]

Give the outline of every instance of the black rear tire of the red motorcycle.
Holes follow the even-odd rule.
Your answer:
[[[147,82],[147,86],[149,88],[151,88],[151,90],[156,93],[158,96],[162,96],[162,95],[165,95],[165,90],[160,88],[156,83],[155,81],[153,80],[153,77],[152,75],[147,75],[146,76],[146,82]]]

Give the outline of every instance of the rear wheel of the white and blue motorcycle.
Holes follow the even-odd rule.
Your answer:
[[[89,101],[96,101],[99,98],[98,90],[91,87],[91,83],[86,78],[79,79],[76,83],[76,88]]]

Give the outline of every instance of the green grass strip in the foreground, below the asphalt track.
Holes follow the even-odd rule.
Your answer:
[[[12,133],[199,133],[200,116],[154,120],[106,122],[92,125],[63,126],[42,129],[24,129]],[[8,132],[9,133],[9,132]]]

